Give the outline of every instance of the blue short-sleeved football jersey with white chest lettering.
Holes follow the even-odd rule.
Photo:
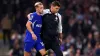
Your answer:
[[[32,23],[31,27],[35,35],[37,36],[37,39],[40,38],[40,31],[42,27],[42,16],[38,15],[36,12],[32,13],[30,15],[30,18],[28,20]],[[33,42],[31,33],[26,30],[26,36],[25,36],[25,42]]]

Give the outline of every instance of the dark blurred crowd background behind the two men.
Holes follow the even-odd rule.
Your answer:
[[[10,56],[23,56],[27,14],[34,12],[34,3],[49,8],[55,0],[0,0],[0,48],[8,45]],[[58,0],[61,3],[65,56],[100,56],[100,0]],[[6,50],[6,48],[2,49]],[[8,51],[7,51],[8,52]],[[35,56],[35,49],[33,55]],[[52,50],[50,56],[54,56]],[[4,54],[0,56],[4,56]]]

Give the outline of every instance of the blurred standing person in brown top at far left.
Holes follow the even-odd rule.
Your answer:
[[[6,14],[2,21],[1,21],[1,26],[2,26],[2,30],[3,30],[3,42],[4,45],[7,43],[6,39],[8,39],[9,44],[10,44],[10,48],[11,48],[11,28],[12,28],[12,23],[11,20],[9,18],[9,15]]]

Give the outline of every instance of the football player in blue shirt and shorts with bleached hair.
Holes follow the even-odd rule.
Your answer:
[[[44,44],[40,38],[40,31],[42,27],[42,12],[43,4],[41,2],[35,3],[36,12],[30,15],[26,23],[27,31],[24,40],[24,56],[31,56],[31,50],[35,48],[42,56],[46,55]]]

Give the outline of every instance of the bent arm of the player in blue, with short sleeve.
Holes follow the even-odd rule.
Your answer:
[[[31,16],[30,16],[30,18],[28,18],[28,21],[27,21],[27,23],[26,23],[26,28],[27,28],[27,30],[32,34],[32,38],[33,38],[34,40],[37,40],[37,37],[36,37],[36,35],[34,34],[34,31],[32,30],[32,27],[31,27],[32,21],[34,21],[33,19],[34,19],[34,18],[31,17]]]

